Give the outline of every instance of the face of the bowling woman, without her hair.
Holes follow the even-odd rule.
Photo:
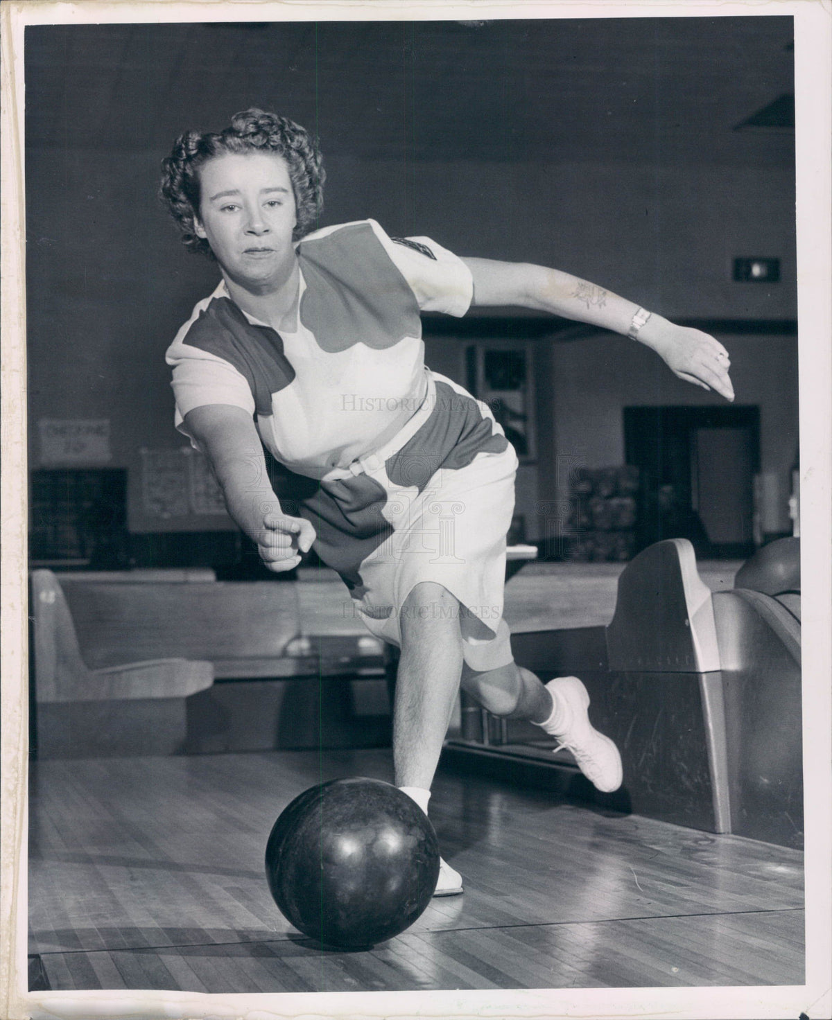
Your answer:
[[[285,283],[294,267],[295,196],[283,157],[226,153],[199,171],[196,233],[226,275],[255,293]]]

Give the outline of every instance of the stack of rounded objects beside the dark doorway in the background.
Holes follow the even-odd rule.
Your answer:
[[[637,467],[580,468],[572,484],[565,559],[630,560],[636,552],[638,491]]]

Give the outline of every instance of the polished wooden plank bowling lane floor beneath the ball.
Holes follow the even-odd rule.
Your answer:
[[[262,867],[296,794],[389,776],[389,752],[37,762],[30,953],[52,988],[408,990],[802,982],[802,855],[441,771],[461,898],[323,951]]]

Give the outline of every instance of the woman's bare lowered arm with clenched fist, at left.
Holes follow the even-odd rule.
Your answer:
[[[185,426],[205,451],[229,514],[256,544],[263,563],[276,573],[296,567],[314,541],[314,528],[281,509],[251,415],[231,404],[206,404],[185,415]]]

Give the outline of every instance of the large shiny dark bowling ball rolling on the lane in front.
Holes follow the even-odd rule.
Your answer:
[[[439,845],[422,809],[380,779],[335,779],[296,797],[265,848],[281,913],[322,944],[368,949],[404,931],[431,901]]]

